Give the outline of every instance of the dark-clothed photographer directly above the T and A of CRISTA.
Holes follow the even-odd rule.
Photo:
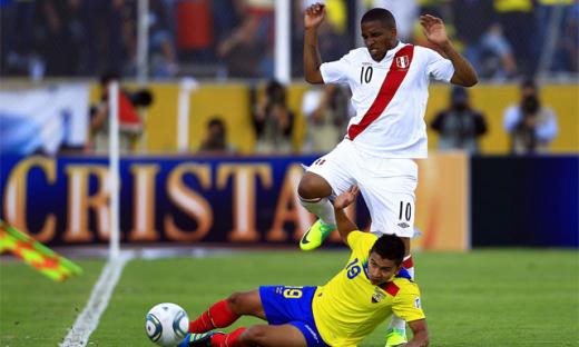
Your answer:
[[[269,81],[254,116],[256,152],[292,152],[294,118],[294,112],[287,106],[285,86]]]

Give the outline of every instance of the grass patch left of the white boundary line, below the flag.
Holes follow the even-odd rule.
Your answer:
[[[104,260],[79,260],[85,274],[55,282],[20,260],[0,266],[0,346],[58,346],[97,282]]]

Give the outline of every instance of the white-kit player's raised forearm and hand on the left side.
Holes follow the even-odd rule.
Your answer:
[[[314,3],[305,10],[304,14],[304,77],[310,83],[320,85],[324,82],[320,66],[322,58],[317,47],[317,28],[324,21],[325,7]]]

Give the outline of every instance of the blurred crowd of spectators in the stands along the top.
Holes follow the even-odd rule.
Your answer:
[[[137,0],[1,1],[0,76],[97,76],[137,68]],[[293,3],[293,76],[302,76],[302,11]],[[325,1],[321,29],[325,61],[354,47],[355,1]],[[483,79],[508,80],[548,72],[577,72],[579,3],[572,0],[375,0],[403,18],[399,36],[428,44],[418,17],[441,17],[462,53]],[[475,14],[474,14],[475,13]],[[412,23],[415,23],[413,26]],[[273,0],[149,0],[151,78],[181,75],[272,78]],[[18,34],[14,34],[18,32]],[[347,42],[347,44],[345,43]]]

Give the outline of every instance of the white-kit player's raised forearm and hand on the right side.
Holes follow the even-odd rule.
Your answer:
[[[462,57],[452,46],[452,42],[446,34],[446,28],[444,27],[442,19],[430,14],[420,16],[420,24],[422,26],[422,31],[424,32],[426,39],[431,43],[436,44],[446,56],[446,58],[452,61],[452,66],[454,67],[454,75],[450,80],[451,83],[462,87],[472,87],[477,85],[479,81],[477,72],[470,62],[464,59],[464,57]]]

